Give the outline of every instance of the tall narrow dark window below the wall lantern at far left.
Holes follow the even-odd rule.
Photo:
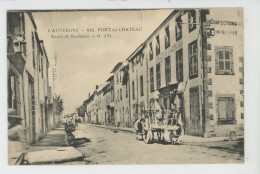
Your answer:
[[[18,77],[16,76],[15,73],[10,71],[8,77],[8,114],[17,114],[18,102],[19,102]]]

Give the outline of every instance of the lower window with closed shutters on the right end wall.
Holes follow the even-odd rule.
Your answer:
[[[233,124],[235,121],[235,105],[233,97],[218,97],[219,124]]]

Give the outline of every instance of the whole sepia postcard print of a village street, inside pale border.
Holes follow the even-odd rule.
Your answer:
[[[244,164],[244,9],[7,10],[8,165]]]

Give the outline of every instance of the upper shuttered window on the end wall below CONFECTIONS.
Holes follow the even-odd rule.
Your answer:
[[[216,74],[234,74],[233,71],[233,49],[232,47],[215,47]]]

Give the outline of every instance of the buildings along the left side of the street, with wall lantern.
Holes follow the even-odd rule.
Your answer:
[[[36,143],[53,115],[49,61],[30,12],[7,13],[8,122],[22,126],[20,140]]]

